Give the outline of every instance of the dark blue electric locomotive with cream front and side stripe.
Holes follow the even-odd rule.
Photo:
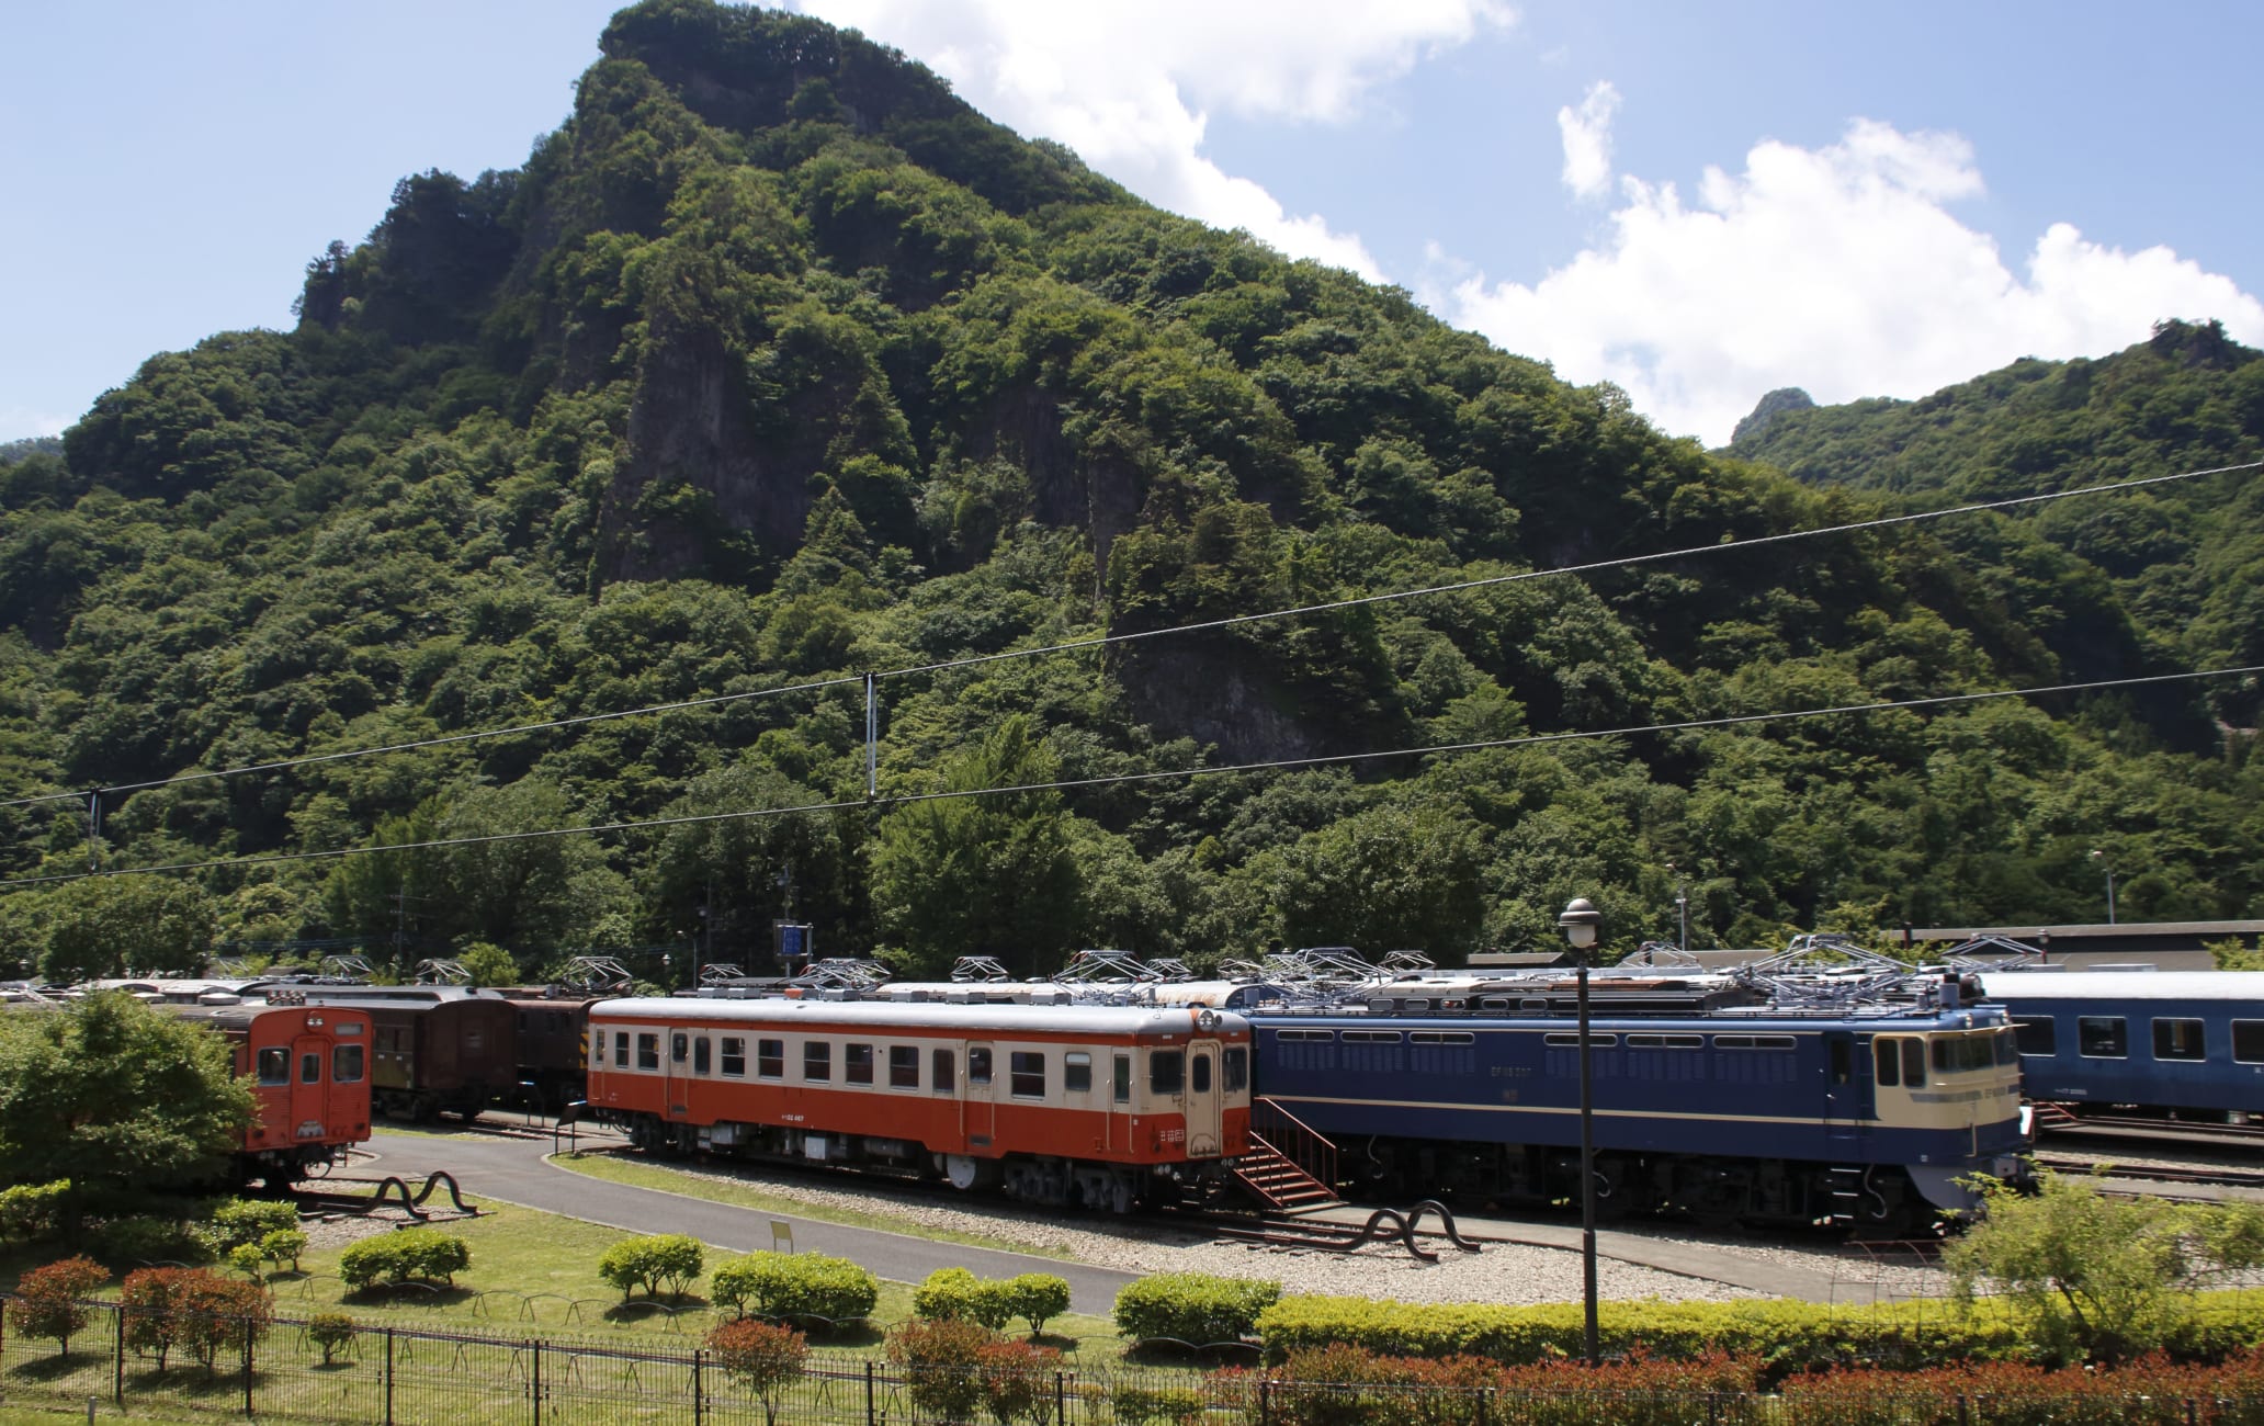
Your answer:
[[[1956,980],[1825,1005],[1723,978],[1598,978],[1598,1206],[1700,1222],[1911,1231],[2017,1177],[2019,1066],[2001,1007]],[[1365,1007],[1250,1010],[1254,1127],[1277,1111],[1399,1197],[1573,1202],[1573,980],[1408,985]]]

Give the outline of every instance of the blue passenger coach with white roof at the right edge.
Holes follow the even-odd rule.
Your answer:
[[[2008,971],[1986,985],[2013,1016],[2031,1100],[2264,1114],[2264,973]]]

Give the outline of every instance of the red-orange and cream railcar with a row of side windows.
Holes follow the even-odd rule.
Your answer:
[[[1250,1141],[1250,1023],[1216,1010],[602,1000],[589,1107],[638,1148],[790,1157],[1125,1211]]]

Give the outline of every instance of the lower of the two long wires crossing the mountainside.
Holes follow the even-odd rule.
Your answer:
[[[1236,772],[1279,772],[1284,767],[1322,767],[1340,763],[1367,763],[1377,758],[1422,758],[1440,754],[1490,751],[1503,747],[1540,747],[1549,742],[1580,742],[1589,738],[1626,738],[1632,733],[1687,733],[1696,729],[1727,729],[1755,722],[1789,722],[1798,718],[1832,718],[1838,713],[1888,713],[1895,708],[1940,708],[1952,704],[1979,704],[2004,697],[2044,697],[2053,693],[2096,693],[2101,688],[2139,688],[2149,684],[2182,684],[2192,679],[2228,679],[2239,675],[2264,675],[2264,663],[2239,668],[2207,668],[2196,672],[2142,675],[2130,679],[2092,679],[2083,684],[2047,684],[2040,688],[1997,688],[1990,693],[1943,693],[1933,697],[1906,697],[1870,704],[1836,704],[1827,708],[1795,708],[1784,713],[1727,713],[1723,718],[1687,718],[1680,722],[1646,722],[1619,729],[1585,729],[1571,733],[1526,733],[1521,738],[1487,738],[1483,742],[1433,742],[1424,747],[1392,747],[1356,754],[1315,754],[1309,758],[1275,758],[1268,763],[1232,763],[1220,767],[1166,767],[1161,772],[1116,772],[1107,776],[1060,779],[1050,783],[1014,783],[1005,788],[958,788],[944,792],[903,792],[894,797],[869,797],[847,801],[811,801],[795,808],[745,808],[738,813],[697,813],[686,817],[643,817],[634,822],[593,822],[586,826],[543,826],[516,833],[484,833],[478,837],[437,837],[430,842],[398,842],[392,847],[335,847],[331,851],[276,851],[269,856],[215,858],[206,862],[163,862],[154,867],[109,867],[97,871],[63,871],[52,876],[16,876],[0,880],[0,887],[29,887],[61,880],[88,880],[93,876],[147,876],[158,871],[211,871],[220,867],[269,867],[276,862],[317,862],[344,856],[367,856],[378,851],[437,851],[446,847],[482,847],[491,842],[532,842],[539,837],[573,837],[584,833],[654,831],[668,826],[693,826],[702,822],[747,822],[756,817],[795,817],[801,813],[840,813],[849,808],[899,808],[921,801],[955,801],[962,797],[1014,797],[1021,792],[1071,792],[1080,788],[1112,788],[1123,783],[1152,783],[1166,779],[1225,776]]]

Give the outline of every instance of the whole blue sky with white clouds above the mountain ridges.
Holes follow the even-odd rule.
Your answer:
[[[290,326],[396,179],[516,167],[611,2],[0,14],[0,439]],[[801,0],[1148,201],[1723,444],[2164,317],[2264,346],[2264,7]]]

